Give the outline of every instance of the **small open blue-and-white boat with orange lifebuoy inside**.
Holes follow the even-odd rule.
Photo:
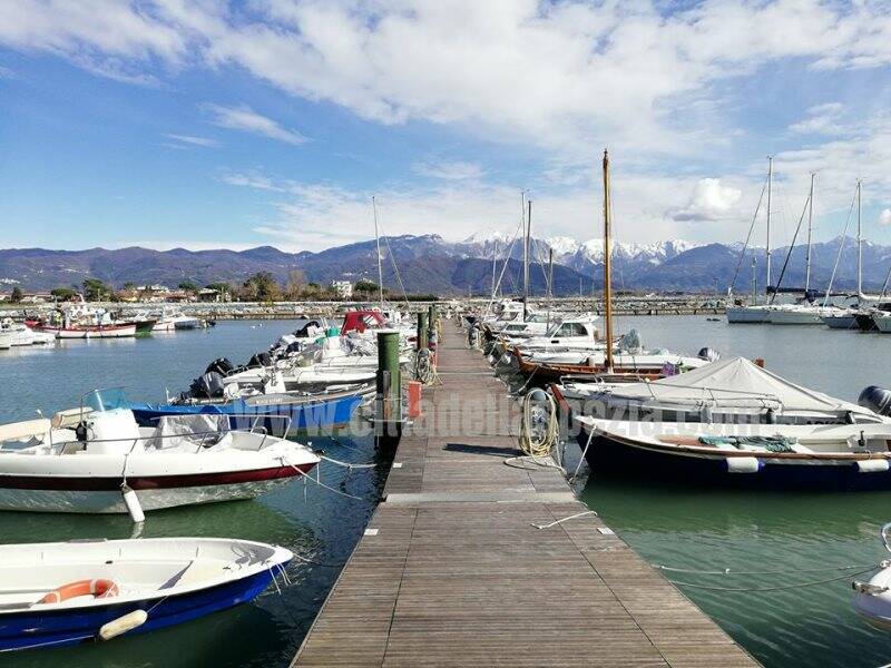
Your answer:
[[[110,640],[233,608],[293,557],[227,538],[0,546],[0,651]]]

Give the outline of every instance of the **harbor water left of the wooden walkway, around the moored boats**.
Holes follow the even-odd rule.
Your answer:
[[[80,394],[91,387],[125,385],[134,399],[163,399],[165,387],[184,390],[210,360],[227,356],[245,362],[297,325],[294,321],[221,322],[206,332],[0,351],[0,422],[31,419],[36,409],[49,415],[76,406]],[[257,501],[149,513],[143,536],[237,537],[285,546],[319,563],[342,563],[374,509],[389,460],[375,453],[372,439],[349,434],[316,439],[313,446],[341,461],[381,463],[349,475],[322,463],[322,482],[361,501],[293,481]],[[129,538],[131,527],[127,517],[0,512],[0,542]],[[294,586],[282,596],[267,591],[252,605],[115,642],[0,655],[0,666],[286,666],[339,571],[295,560],[288,569]]]

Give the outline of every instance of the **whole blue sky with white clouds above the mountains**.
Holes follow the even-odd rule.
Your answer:
[[[773,155],[774,244],[812,171],[891,243],[890,67],[869,0],[0,1],[0,246],[587,239],[604,147],[620,240],[743,239]]]

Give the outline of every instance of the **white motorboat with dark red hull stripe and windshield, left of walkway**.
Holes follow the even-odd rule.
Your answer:
[[[119,390],[94,391],[52,421],[0,426],[0,510],[133,514],[130,490],[143,510],[253,499],[319,463],[258,425],[232,430],[227,415],[140,428],[124,405]]]

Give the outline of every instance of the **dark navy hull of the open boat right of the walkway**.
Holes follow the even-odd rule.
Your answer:
[[[580,430],[585,450],[590,432]],[[585,454],[594,475],[701,487],[804,491],[891,490],[891,471],[861,473],[855,463],[775,463],[762,460],[758,471],[731,473],[726,459],[689,456],[638,448],[595,434]]]

